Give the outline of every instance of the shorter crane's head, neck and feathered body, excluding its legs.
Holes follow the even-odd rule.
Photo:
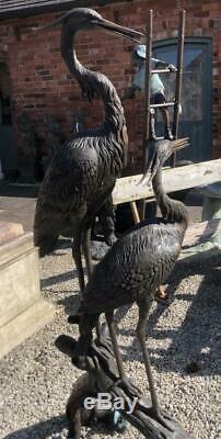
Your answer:
[[[114,244],[92,273],[80,314],[106,313],[139,303],[154,295],[155,289],[165,282],[181,252],[188,213],[182,202],[164,192],[161,167],[174,149],[187,144],[186,138],[149,144],[149,168],[162,217],[139,223]]]

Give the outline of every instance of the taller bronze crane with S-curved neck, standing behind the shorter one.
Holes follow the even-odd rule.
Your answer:
[[[62,24],[61,54],[71,76],[89,101],[98,95],[104,120],[96,130],[75,133],[53,157],[42,183],[34,222],[34,241],[40,256],[53,248],[59,235],[73,238],[80,290],[83,291],[83,249],[88,274],[92,272],[90,229],[96,211],[111,194],[126,165],[128,137],[124,109],[113,83],[103,74],[85,68],[77,58],[74,36],[97,27],[139,41],[139,32],[103,19],[96,11],[78,8],[45,27]],[[45,29],[42,27],[42,29]]]

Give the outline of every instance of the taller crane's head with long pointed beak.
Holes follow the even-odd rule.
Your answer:
[[[140,43],[140,38],[143,36],[143,34],[140,32],[103,19],[103,16],[98,12],[89,8],[72,9],[72,11],[68,12],[63,16],[63,22],[66,23],[66,25],[74,29],[74,31],[80,31],[81,29],[91,30],[95,27],[102,27],[106,32],[123,35],[138,43]]]

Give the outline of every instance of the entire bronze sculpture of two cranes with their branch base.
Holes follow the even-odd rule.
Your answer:
[[[113,245],[92,273],[90,229],[94,215],[109,196],[116,177],[126,162],[127,132],[124,110],[115,88],[102,74],[91,71],[80,64],[73,36],[80,29],[88,30],[97,25],[133,40],[140,35],[88,9],[70,11],[49,26],[59,23],[62,24],[61,53],[70,74],[89,101],[97,94],[102,98],[105,113],[98,130],[77,133],[54,156],[39,192],[35,216],[36,244],[46,238],[48,245],[48,235],[54,240],[68,226],[72,230],[72,252],[82,291],[79,316],[72,318],[72,323],[79,324],[78,341],[67,336],[56,340],[57,347],[72,358],[73,364],[88,372],[79,385],[75,383],[69,398],[67,415],[70,432],[80,437],[81,423],[91,417],[82,407],[85,396],[108,392],[113,399],[123,398],[124,407],[127,407],[128,399],[137,398],[131,413],[126,408],[119,410],[146,437],[188,438],[159,405],[146,346],[146,324],[155,289],[166,280],[175,266],[188,216],[185,205],[170,199],[164,192],[161,168],[175,150],[188,145],[188,139],[152,139],[149,143],[147,171],[151,173],[162,217],[136,225]],[[142,182],[146,178],[147,172]],[[90,275],[86,286],[81,247]],[[127,379],[115,334],[114,309],[133,302],[139,307],[137,336],[151,398],[142,396],[140,390]],[[100,335],[97,322],[102,313],[105,313],[109,336],[105,330]],[[92,333],[94,327],[100,335],[95,341]]]

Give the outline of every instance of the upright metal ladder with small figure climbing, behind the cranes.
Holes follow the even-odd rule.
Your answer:
[[[151,90],[150,80],[152,74],[171,74],[167,68],[164,69],[151,69],[151,58],[152,58],[152,43],[153,43],[153,11],[150,10],[148,14],[147,23],[147,42],[146,42],[146,87],[144,87],[144,128],[143,128],[143,147],[142,147],[142,158],[143,158],[143,170],[147,168],[147,145],[150,139],[150,122],[151,117],[154,117],[155,109],[163,106],[173,106],[173,127],[172,133],[174,138],[178,135],[178,113],[181,104],[181,93],[182,93],[182,78],[183,78],[183,58],[184,58],[184,34],[185,34],[185,18],[186,11],[179,12],[179,24],[178,24],[178,43],[177,43],[177,61],[176,61],[176,81],[175,81],[175,99],[174,102],[166,102],[160,104],[151,104]],[[164,137],[159,137],[163,139]],[[171,166],[176,166],[176,155],[174,154],[171,159]],[[142,201],[141,213],[139,215],[136,202],[130,203],[133,219],[139,223],[140,217],[144,219],[146,201]]]

